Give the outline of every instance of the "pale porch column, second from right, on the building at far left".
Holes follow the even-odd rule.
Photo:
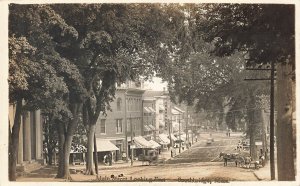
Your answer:
[[[23,115],[24,129],[24,160],[31,161],[31,131],[30,131],[30,112]]]

